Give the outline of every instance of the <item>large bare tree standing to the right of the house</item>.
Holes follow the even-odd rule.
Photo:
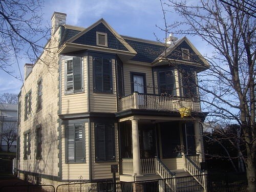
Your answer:
[[[211,56],[204,56],[210,65],[208,70],[198,77],[200,101],[203,110],[209,112],[209,121],[241,127],[237,143],[245,143],[246,153],[236,147],[246,165],[248,190],[256,191],[255,2],[199,0],[190,5],[166,0],[162,5],[164,14],[170,11],[180,16],[172,24],[165,22],[164,32],[199,36],[213,50]],[[230,134],[222,135],[230,138]]]

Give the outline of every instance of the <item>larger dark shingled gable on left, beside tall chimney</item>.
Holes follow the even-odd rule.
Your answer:
[[[108,46],[97,45],[96,33],[105,33],[108,36]],[[103,18],[98,20],[95,24],[84,29],[80,33],[74,35],[68,39],[64,46],[80,47],[80,50],[91,49],[91,50],[104,50],[105,52],[111,50],[122,52],[123,54],[130,54],[134,56],[137,52],[108,24]],[[62,46],[62,50],[65,49]],[[76,51],[77,51],[76,49]]]

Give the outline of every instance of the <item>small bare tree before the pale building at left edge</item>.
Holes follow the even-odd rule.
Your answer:
[[[2,140],[7,143],[7,152],[9,152],[12,143],[16,141],[17,138],[17,123],[5,123],[5,129],[0,136],[2,137]]]

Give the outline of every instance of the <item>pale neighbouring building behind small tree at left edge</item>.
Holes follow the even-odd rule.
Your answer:
[[[9,130],[8,136],[17,133],[17,104],[0,103],[0,143],[2,151],[8,151],[6,141],[6,131]],[[4,133],[4,134],[3,134]],[[16,152],[16,141],[9,141],[9,152]]]

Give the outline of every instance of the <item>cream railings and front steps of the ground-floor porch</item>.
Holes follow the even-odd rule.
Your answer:
[[[164,163],[158,158],[140,159],[140,176],[134,175],[133,159],[122,158],[120,167],[120,181],[124,181],[124,175],[134,177],[134,181],[143,181],[156,179],[164,179],[165,184],[170,188],[170,191],[179,191],[181,186],[186,185],[187,189],[190,186],[198,188],[199,191],[207,191],[207,180],[205,173],[199,168],[199,155],[184,155],[184,169],[169,170]],[[146,177],[144,177],[146,176]],[[155,176],[155,177],[154,177]],[[140,178],[141,177],[141,178]],[[144,177],[144,179],[143,179]],[[184,178],[190,177],[188,181]],[[132,182],[133,180],[127,180]]]

